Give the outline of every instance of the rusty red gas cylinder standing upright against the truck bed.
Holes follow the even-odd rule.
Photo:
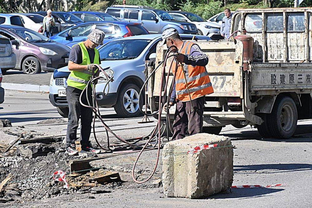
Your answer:
[[[241,41],[243,43],[243,70],[248,70],[248,63],[253,61],[253,38],[246,33],[241,33],[234,37],[236,41]]]

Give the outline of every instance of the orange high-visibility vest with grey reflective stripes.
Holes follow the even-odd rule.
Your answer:
[[[180,53],[184,55],[190,55],[191,47],[193,44],[194,43],[190,41],[184,42]],[[176,63],[173,62],[173,74],[176,67],[175,64]],[[183,70],[185,72],[186,80],[188,81],[188,88],[185,83]],[[178,66],[175,77],[175,85],[177,101],[185,102],[190,100],[190,97],[188,95],[188,89],[190,91],[192,100],[213,93],[213,88],[206,67],[202,66],[193,67],[192,65],[187,65],[185,63],[183,64],[183,66]]]

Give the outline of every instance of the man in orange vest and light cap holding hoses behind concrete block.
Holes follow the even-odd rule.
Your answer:
[[[176,57],[178,63],[173,63],[172,66],[175,70],[175,64],[178,64],[177,72],[173,71],[176,77],[168,105],[170,109],[177,102],[172,138],[177,140],[184,138],[187,131],[190,135],[202,132],[205,95],[213,93],[213,88],[205,67],[208,57],[197,44],[182,41],[175,29],[165,30],[162,38],[163,44],[176,46],[179,52]],[[166,104],[164,110],[167,110]]]

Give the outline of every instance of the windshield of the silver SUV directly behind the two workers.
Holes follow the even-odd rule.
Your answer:
[[[138,57],[150,40],[118,40],[111,41],[99,48],[101,60],[123,60]]]

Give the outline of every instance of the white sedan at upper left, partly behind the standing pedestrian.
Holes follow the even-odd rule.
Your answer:
[[[31,14],[31,13],[13,13],[17,16],[21,17],[21,20],[24,24],[24,27],[31,29],[33,31],[42,33],[42,22],[43,22],[43,16],[40,14]],[[61,24],[60,23],[55,23],[56,27],[60,31],[61,29]]]

